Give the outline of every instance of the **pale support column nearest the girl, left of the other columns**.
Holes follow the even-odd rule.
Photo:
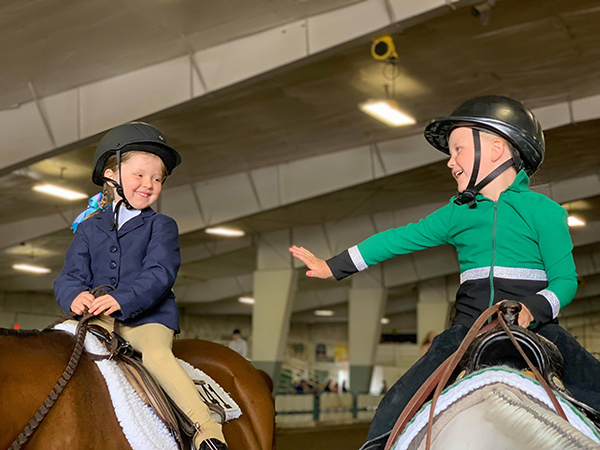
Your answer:
[[[252,364],[267,372],[275,386],[287,344],[297,282],[289,247],[288,230],[262,234],[258,243],[258,270],[254,272]]]

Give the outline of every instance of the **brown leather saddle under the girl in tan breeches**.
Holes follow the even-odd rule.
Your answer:
[[[177,442],[178,447],[181,450],[191,449],[193,436],[198,431],[197,425],[165,393],[142,364],[142,354],[123,339],[118,331],[119,325],[116,321],[115,331],[112,333],[99,325],[88,326],[88,332],[96,336],[110,352],[108,359],[117,363],[142,401],[154,409],[156,415]],[[93,360],[107,359],[107,356],[104,355],[90,353],[87,355]],[[194,381],[194,383],[202,384],[203,382]],[[212,396],[200,395],[200,397],[208,406],[213,419],[220,424],[225,423],[225,410],[218,401]]]

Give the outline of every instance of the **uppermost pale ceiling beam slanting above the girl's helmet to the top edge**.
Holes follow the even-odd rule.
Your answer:
[[[451,11],[446,0],[366,0],[49,97],[33,95],[0,111],[0,174],[388,27],[390,6],[395,23],[406,27]]]

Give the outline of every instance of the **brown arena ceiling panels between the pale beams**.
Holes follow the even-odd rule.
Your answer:
[[[0,25],[7,39],[0,43],[5,67],[0,78],[0,108],[10,111],[30,101],[33,93],[43,98],[176,58],[188,50],[211,48],[309,16],[367,3],[372,2],[4,3]],[[401,2],[392,3],[398,7]],[[410,23],[373,30],[248,80],[138,117],[159,127],[182,154],[184,164],[165,188],[210,183],[361,146],[377,147],[420,134],[433,117],[448,114],[476,95],[509,95],[540,111],[582,99],[596,104],[594,99],[600,95],[597,2],[501,0],[487,26],[472,16],[472,3],[476,2],[459,2],[452,4],[455,9],[441,8]],[[384,84],[391,83],[384,76],[383,64],[370,56],[371,38],[384,32],[392,33],[399,54],[396,98],[416,118],[414,126],[389,128],[357,108],[365,100],[381,98]],[[575,183],[598,176],[598,115],[587,120],[571,111],[570,117],[572,123],[547,131],[547,157],[534,184]],[[96,142],[97,137],[82,139],[35,161],[1,169],[0,208],[4,213],[0,225],[9,227],[57,213],[64,215],[66,222],[73,210],[83,209],[85,202],[73,205],[53,200],[32,192],[31,187],[45,180],[94,194],[96,188],[89,174]],[[243,277],[256,268],[256,242],[261,233],[438,204],[453,193],[447,172],[444,161],[432,161],[223,220],[223,225],[244,229],[249,238],[231,251],[189,258],[182,266],[179,283],[237,277],[243,287]],[[586,186],[575,189],[569,208],[596,222],[600,219],[595,207],[598,193]],[[0,250],[0,289],[50,291],[71,236],[66,229],[37,232],[18,245],[5,246]],[[199,245],[212,248],[223,240],[199,227],[182,234],[182,251],[185,254],[186,249]],[[590,245],[593,243],[586,240],[582,248]],[[53,273],[35,279],[16,274],[11,266],[23,258],[47,265]],[[322,289],[326,295],[332,286],[305,280],[299,289]],[[392,296],[396,300],[388,302],[388,308],[394,309],[402,301],[412,304],[408,299],[414,298],[414,285],[410,286],[408,291],[401,286],[394,288],[403,290]],[[250,313],[233,296],[211,303],[214,313]],[[344,301],[337,304],[343,310]],[[187,306],[190,311],[211,312],[204,304]],[[414,308],[403,313],[414,315]],[[294,317],[309,321],[302,314],[297,311]],[[341,311],[338,318],[343,314]]]

